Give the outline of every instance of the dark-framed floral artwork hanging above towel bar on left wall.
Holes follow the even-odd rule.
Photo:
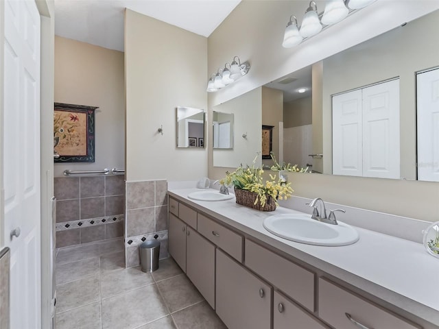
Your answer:
[[[95,106],[55,103],[55,162],[95,162]]]

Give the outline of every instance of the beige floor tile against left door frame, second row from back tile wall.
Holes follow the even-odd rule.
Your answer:
[[[56,284],[64,284],[96,274],[99,274],[99,257],[56,264]]]

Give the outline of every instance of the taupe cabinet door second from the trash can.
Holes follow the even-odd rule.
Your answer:
[[[186,230],[187,276],[215,309],[215,245],[189,226]]]

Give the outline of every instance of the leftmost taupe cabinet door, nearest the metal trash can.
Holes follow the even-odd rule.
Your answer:
[[[169,214],[169,254],[186,273],[186,224]]]

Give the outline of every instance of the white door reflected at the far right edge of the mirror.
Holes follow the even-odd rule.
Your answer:
[[[439,69],[416,76],[418,180],[439,182]]]

